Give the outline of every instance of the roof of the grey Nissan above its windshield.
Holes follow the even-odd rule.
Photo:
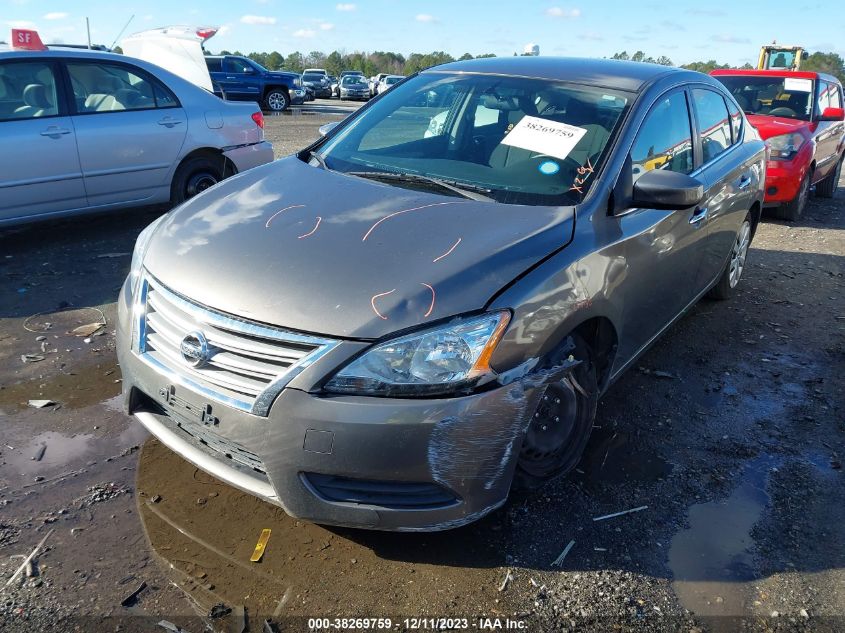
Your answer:
[[[571,81],[593,86],[612,87],[639,92],[647,85],[672,73],[688,75],[690,80],[701,73],[672,66],[617,59],[587,59],[579,57],[488,57],[451,62],[434,66],[423,72],[479,73],[530,77],[550,81]]]

